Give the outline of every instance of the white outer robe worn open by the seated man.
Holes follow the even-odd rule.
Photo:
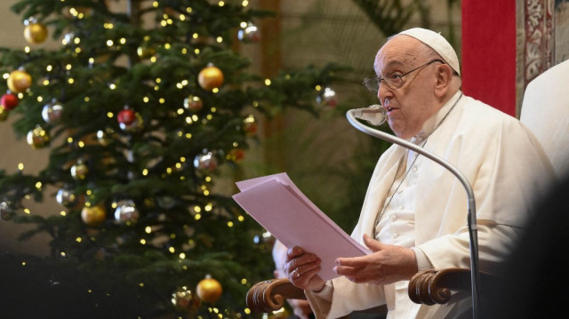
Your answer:
[[[448,103],[454,102],[459,94]],[[515,238],[510,237],[524,226],[535,195],[545,194],[555,179],[549,159],[533,134],[516,118],[467,96],[461,98],[445,122],[429,136],[425,149],[453,163],[469,179],[476,197],[478,222],[500,226],[489,228],[496,231],[478,233],[481,270],[491,270],[514,244]],[[377,163],[351,235],[360,243],[364,234],[373,236],[376,214],[404,152],[404,148],[394,145]],[[435,268],[469,267],[464,187],[451,172],[424,156],[415,164],[418,168],[415,246]],[[505,227],[510,230],[504,232]],[[451,311],[469,307],[469,299],[443,306],[414,304],[407,294],[407,281],[381,286],[352,283],[342,276],[333,279],[332,285],[331,303],[307,291],[318,318],[337,318],[382,304],[387,304],[389,319],[443,318]]]

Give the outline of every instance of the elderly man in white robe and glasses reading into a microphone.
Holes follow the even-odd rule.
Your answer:
[[[538,141],[514,117],[461,92],[461,69],[443,36],[412,28],[377,53],[377,92],[398,137],[444,157],[471,183],[477,201],[480,267],[503,259],[527,219],[532,198],[554,179]],[[488,74],[488,76],[500,76]],[[469,267],[467,198],[460,182],[424,156],[392,146],[373,172],[352,233],[371,254],[337,259],[339,276],[324,282],[318,251],[293,247],[284,267],[306,291],[317,318],[336,318],[386,304],[388,318],[452,318],[470,300],[421,306],[408,280],[426,268]]]

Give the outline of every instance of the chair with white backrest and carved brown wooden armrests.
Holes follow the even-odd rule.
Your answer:
[[[559,177],[569,174],[569,60],[537,76],[527,85],[520,121],[541,142]],[[482,287],[499,280],[481,274]],[[409,297],[425,305],[445,304],[454,293],[470,293],[470,269],[429,269],[413,276]],[[484,291],[482,291],[484,292]],[[284,306],[285,299],[306,299],[303,291],[287,279],[268,280],[252,286],[247,306],[253,312],[270,312]],[[377,309],[373,309],[377,310]]]

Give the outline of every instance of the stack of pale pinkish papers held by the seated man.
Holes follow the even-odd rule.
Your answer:
[[[310,202],[286,173],[236,183],[233,199],[286,247],[299,246],[322,259],[318,275],[329,280],[335,259],[370,253]]]

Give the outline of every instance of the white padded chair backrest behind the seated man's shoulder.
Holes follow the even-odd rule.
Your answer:
[[[541,142],[557,176],[569,173],[569,60],[527,84],[520,121]]]

